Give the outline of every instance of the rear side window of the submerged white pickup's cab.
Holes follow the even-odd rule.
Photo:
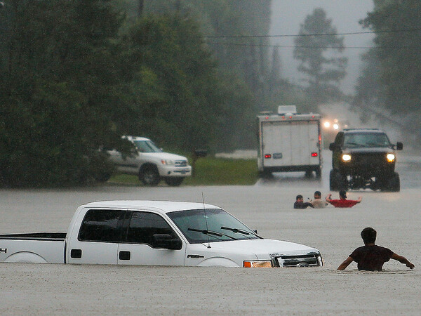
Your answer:
[[[123,216],[124,212],[121,210],[91,209],[87,211],[78,239],[81,242],[120,242]]]

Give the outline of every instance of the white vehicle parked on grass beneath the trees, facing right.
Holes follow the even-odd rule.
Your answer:
[[[136,174],[145,185],[166,184],[178,186],[185,177],[192,175],[192,166],[186,157],[163,152],[152,140],[138,136],[123,136],[131,141],[137,152],[131,156],[109,150],[109,159],[121,173]]]

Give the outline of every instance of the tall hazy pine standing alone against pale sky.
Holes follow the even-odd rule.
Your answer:
[[[300,36],[295,38],[294,58],[300,60],[298,70],[307,76],[307,92],[316,104],[342,94],[339,83],[346,75],[347,58],[340,56],[343,37],[335,33],[326,12],[316,8],[307,15],[300,25]]]

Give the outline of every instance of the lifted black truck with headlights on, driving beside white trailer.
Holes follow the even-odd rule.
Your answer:
[[[402,143],[390,143],[379,129],[345,129],[330,143],[332,170],[330,190],[370,188],[399,192],[401,183],[396,173],[395,150]]]

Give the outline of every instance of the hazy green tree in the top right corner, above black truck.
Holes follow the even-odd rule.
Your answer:
[[[375,10],[361,21],[373,29],[380,61],[380,84],[385,106],[392,112],[419,110],[421,98],[421,41],[417,29],[421,3],[417,0],[376,1]]]

